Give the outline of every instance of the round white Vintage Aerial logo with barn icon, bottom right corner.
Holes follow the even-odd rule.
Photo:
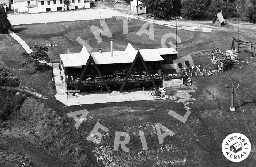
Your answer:
[[[224,156],[233,162],[245,160],[251,152],[250,140],[243,134],[233,133],[222,142]]]

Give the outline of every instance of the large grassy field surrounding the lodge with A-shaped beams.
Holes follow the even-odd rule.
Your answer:
[[[144,23],[143,21],[130,20],[128,22],[128,35],[123,35],[122,33],[122,28],[120,28],[121,20],[106,19],[106,23],[113,35],[114,50],[125,49],[128,42],[135,48],[141,49],[161,47],[158,42],[150,42],[146,35],[140,37],[135,34]],[[45,45],[45,43],[57,43],[58,46],[53,49],[53,55],[54,61],[58,62],[58,54],[65,53],[67,50],[72,53],[80,52],[82,46],[75,41],[78,36],[87,41],[93,47],[94,52],[97,52],[99,47],[103,51],[110,50],[109,39],[107,37],[103,37],[103,43],[97,43],[89,28],[91,25],[97,26],[98,21],[82,21],[76,22],[75,24],[26,25],[15,27],[14,32],[29,45],[35,43],[41,45]],[[40,26],[42,28],[39,28]],[[216,29],[211,33],[180,30],[182,50],[179,47],[178,52],[180,52],[180,56],[191,53],[196,65],[200,64],[202,68],[214,70],[216,69],[216,65],[212,64],[210,60],[211,47],[219,46],[221,51],[230,49],[231,39],[236,36],[235,29],[227,24],[222,29]],[[36,35],[38,31],[42,35]],[[175,29],[154,25],[155,40],[159,41],[163,34],[174,31]],[[3,37],[3,35],[1,37],[1,40],[4,40],[4,38],[8,39],[3,47],[6,53],[1,55],[1,63],[11,69],[14,68],[14,71],[18,72],[18,65],[12,67],[12,63],[9,62],[14,61],[14,63],[19,64],[18,60],[22,60],[19,57],[19,52],[22,49],[19,48],[19,45],[11,37]],[[241,29],[241,39],[252,40],[255,43],[255,38],[255,29]],[[168,42],[166,41],[166,43]],[[14,43],[16,47],[8,48],[8,45],[12,45],[10,43]],[[20,50],[18,51],[16,48]],[[248,50],[248,48],[245,47],[245,50]],[[210,52],[206,53],[207,51]],[[7,53],[10,53],[9,55],[11,56],[5,60],[3,56],[7,55]],[[35,105],[34,109],[41,108],[41,110],[34,117],[38,117],[38,120],[40,117],[42,118],[42,120],[39,120],[40,124],[37,124],[37,128],[34,129],[31,125],[35,120],[29,119],[28,121],[30,123],[28,124],[22,122],[17,117],[15,122],[18,122],[18,124],[12,124],[13,127],[9,127],[11,130],[8,132],[15,134],[17,131],[20,131],[20,134],[24,134],[27,138],[31,136],[32,138],[37,138],[36,136],[39,136],[36,140],[37,142],[44,143],[44,146],[50,152],[60,155],[62,158],[72,157],[72,160],[74,160],[76,158],[75,148],[77,147],[80,152],[77,157],[78,161],[74,163],[79,166],[83,166],[81,164],[83,162],[97,162],[97,166],[255,166],[256,152],[253,147],[249,157],[239,163],[230,162],[223,156],[221,151],[223,139],[233,132],[242,133],[249,138],[239,103],[241,104],[242,110],[244,110],[243,114],[251,133],[252,141],[256,143],[256,91],[254,89],[256,87],[254,72],[256,69],[256,59],[250,59],[250,54],[244,50],[241,50],[240,55],[241,61],[238,64],[226,67],[228,75],[234,81],[234,85],[239,82],[241,87],[236,90],[238,100],[235,96],[235,112],[229,111],[231,90],[226,90],[225,83],[230,85],[231,81],[227,73],[214,72],[211,77],[192,77],[193,84],[190,88],[195,89],[194,93],[177,93],[173,98],[167,100],[118,102],[69,107],[64,106],[53,99],[53,97],[42,100],[47,106],[44,106],[45,104],[40,104],[42,105],[40,106],[33,100],[26,101],[21,110],[22,112],[19,113],[22,115],[20,118],[23,119],[27,112],[29,114],[33,113],[33,107],[31,105],[37,104],[39,106]],[[26,68],[32,71],[30,69],[32,67]],[[48,83],[46,84],[47,87],[39,88],[38,85],[37,91],[44,93],[50,90],[50,74],[47,72],[50,73],[47,70],[41,73],[37,72],[37,75],[39,76],[41,74]],[[26,75],[22,74],[22,78],[31,77],[34,82],[38,82],[37,78],[39,77],[35,77],[33,76],[34,74],[25,70],[24,73]],[[49,79],[46,78],[46,74],[49,75]],[[22,80],[22,83],[26,84],[26,81],[24,79]],[[42,83],[38,83],[42,85]],[[26,86],[29,86],[29,84],[27,83]],[[173,110],[180,115],[184,115],[187,107],[191,108],[192,113],[185,123],[167,114],[169,110]],[[57,109],[57,114],[50,114],[50,108]],[[89,114],[78,130],[76,130],[74,127],[75,121],[72,118],[68,119],[65,113],[85,108],[89,111]],[[64,119],[67,121],[67,126],[62,130],[58,128],[54,129],[53,132],[57,133],[56,136],[51,136],[50,134],[46,136],[48,134],[47,129],[51,130],[50,126],[47,126],[47,121],[50,122],[49,125],[60,127],[57,126],[58,122],[56,121],[58,116],[60,116],[61,120]],[[109,129],[108,132],[99,130],[103,134],[99,145],[86,139],[97,122]],[[161,145],[158,142],[154,128],[154,125],[158,122],[176,134],[172,137],[167,136],[164,138],[164,143]],[[25,128],[22,128],[23,126]],[[45,130],[43,130],[44,128]],[[142,150],[142,144],[139,138],[140,130],[143,130],[145,133],[148,150]],[[2,132],[4,131],[2,130]],[[31,131],[31,134],[27,134],[27,131]],[[123,152],[121,148],[119,148],[119,151],[113,151],[116,131],[127,132],[130,135],[131,140],[127,144],[130,150],[129,153]],[[61,140],[62,137],[63,140]],[[62,145],[61,143],[64,144]],[[90,153],[90,160],[86,161],[88,159],[86,156],[88,153]],[[85,156],[83,157],[83,155]]]

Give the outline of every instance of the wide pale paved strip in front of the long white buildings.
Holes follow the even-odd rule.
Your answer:
[[[33,24],[33,23],[49,23],[56,21],[75,21],[75,20],[91,20],[99,19],[100,9],[84,9],[67,12],[46,12],[34,14],[8,14],[8,19],[12,25]],[[113,9],[102,9],[102,19],[115,16],[124,16],[124,14],[114,11]]]

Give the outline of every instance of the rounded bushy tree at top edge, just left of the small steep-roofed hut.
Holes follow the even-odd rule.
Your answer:
[[[208,0],[181,0],[181,13],[187,19],[198,19],[207,9]]]

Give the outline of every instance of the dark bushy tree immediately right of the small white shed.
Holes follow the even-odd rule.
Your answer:
[[[154,13],[154,17],[167,17],[173,8],[173,0],[141,0],[143,5]]]

